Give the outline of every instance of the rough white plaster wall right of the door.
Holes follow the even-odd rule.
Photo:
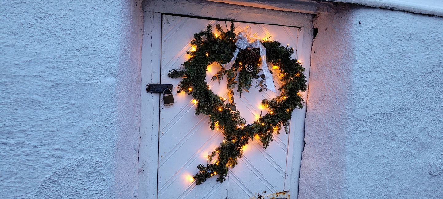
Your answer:
[[[314,20],[299,198],[443,198],[443,18]]]

